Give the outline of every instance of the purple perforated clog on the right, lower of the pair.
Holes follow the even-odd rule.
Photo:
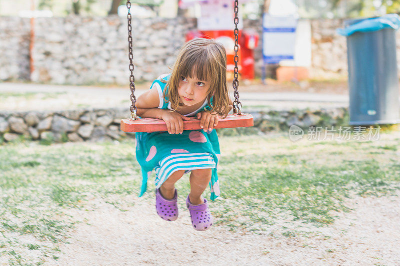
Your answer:
[[[186,198],[186,207],[189,209],[191,224],[197,231],[205,231],[212,226],[212,216],[208,208],[208,202],[193,205],[190,203],[189,195]]]

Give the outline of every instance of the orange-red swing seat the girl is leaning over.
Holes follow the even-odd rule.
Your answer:
[[[200,120],[189,117],[183,121],[183,130],[202,130]],[[250,114],[228,114],[224,119],[219,119],[214,128],[252,127],[253,117]],[[138,120],[122,119],[121,130],[123,132],[155,132],[167,131],[165,122],[157,118],[140,118]]]

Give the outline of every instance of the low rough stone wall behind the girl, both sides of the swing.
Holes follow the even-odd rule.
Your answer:
[[[254,117],[254,127],[245,128],[247,131],[244,133],[288,130],[291,125],[307,129],[309,126],[333,126],[347,122],[346,108],[248,112]],[[0,143],[21,137],[47,143],[119,139],[126,136],[119,130],[119,123],[127,117],[129,111],[126,108],[0,112]],[[232,129],[229,132],[235,131]]]

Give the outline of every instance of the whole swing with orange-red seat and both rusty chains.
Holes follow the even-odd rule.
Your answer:
[[[155,132],[155,131],[167,131],[166,124],[162,119],[157,118],[138,118],[136,115],[137,108],[135,106],[136,97],[134,96],[135,85],[133,76],[133,45],[132,45],[132,26],[131,26],[131,14],[130,14],[130,1],[126,2],[126,7],[128,9],[128,47],[129,47],[129,88],[130,88],[130,100],[132,105],[130,106],[131,118],[121,120],[121,130],[123,132]],[[237,51],[239,49],[238,45],[238,35],[239,30],[237,28],[237,23],[239,18],[237,16],[238,11],[238,0],[234,0],[234,71],[233,71],[233,89],[235,100],[232,103],[233,113],[228,114],[224,119],[219,119],[218,124],[214,128],[233,128],[233,127],[251,127],[253,126],[253,117],[251,114],[242,114],[241,102],[239,101],[239,92],[237,87],[239,82],[237,61],[239,57],[237,56]],[[183,130],[201,130],[200,120],[194,117],[189,117],[190,120],[183,121]]]

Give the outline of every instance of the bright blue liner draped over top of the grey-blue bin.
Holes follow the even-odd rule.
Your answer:
[[[386,14],[379,17],[352,19],[344,21],[344,25],[344,28],[336,29],[336,32],[343,36],[349,36],[357,31],[376,31],[387,27],[396,30],[400,27],[400,16],[397,14]]]

